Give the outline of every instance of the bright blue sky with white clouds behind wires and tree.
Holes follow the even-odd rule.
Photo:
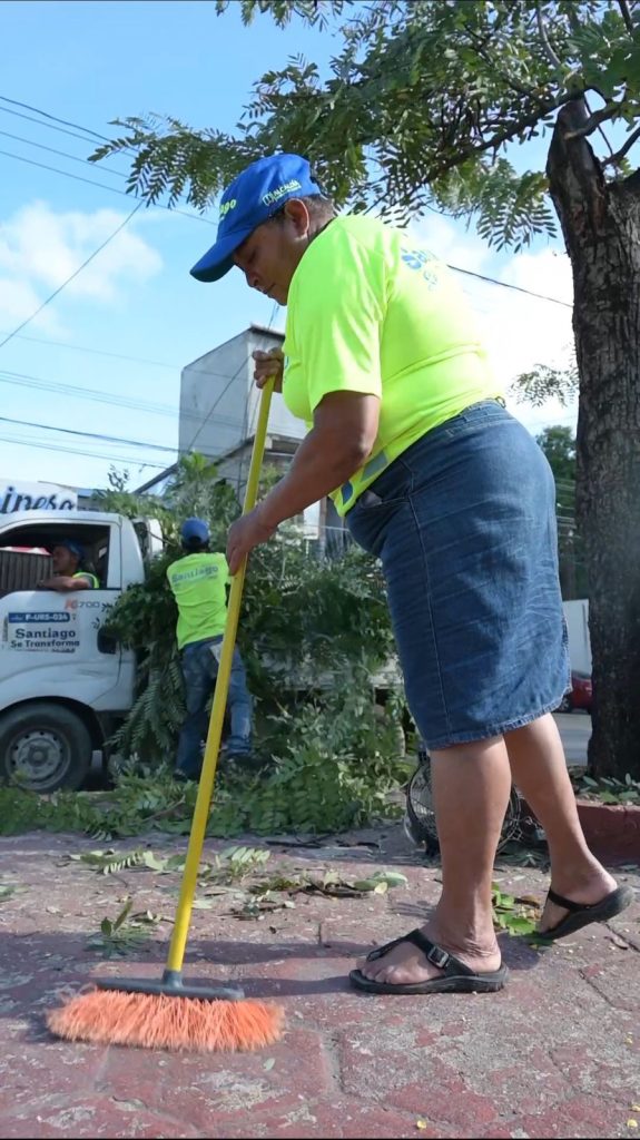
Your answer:
[[[259,17],[245,28],[239,6],[219,18],[208,0],[19,0],[2,5],[1,22],[2,40],[13,47],[3,59],[0,95],[105,135],[110,133],[109,120],[151,111],[171,113],[194,127],[232,128],[252,82],[263,71],[284,65],[297,51],[325,66],[335,47],[329,35],[297,22],[282,32],[270,18]],[[0,100],[0,132],[6,132],[0,133],[0,152],[123,188],[128,168],[122,157],[92,169],[48,153],[32,144],[77,158],[87,157],[91,147],[16,112],[32,114]],[[527,157],[533,157],[531,150]],[[0,154],[0,333],[27,317],[133,205],[108,189]],[[544,241],[515,258],[495,255],[473,231],[435,214],[418,228],[451,263],[564,300],[571,296],[559,243]],[[130,469],[133,482],[150,478],[156,470],[151,464],[172,462],[180,368],[249,321],[268,324],[272,314],[271,302],[249,293],[237,272],[222,286],[205,286],[189,277],[189,267],[214,236],[215,227],[200,219],[140,210],[24,335],[0,349],[1,416],[126,437],[167,450],[92,442],[0,421],[1,478],[104,486],[109,457],[117,467]],[[566,352],[568,309],[463,280],[486,319],[506,380],[535,359],[551,363]],[[276,325],[282,319],[278,314]],[[16,382],[8,383],[11,378]],[[107,391],[113,400],[129,402],[80,399],[61,385]],[[553,408],[528,414],[533,429],[561,416],[566,422],[567,413]],[[9,437],[30,446],[7,442]],[[43,443],[68,451],[34,446]],[[73,454],[77,450],[100,457]]]

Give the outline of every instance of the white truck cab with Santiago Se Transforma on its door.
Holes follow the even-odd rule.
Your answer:
[[[82,544],[98,589],[38,589],[47,553]],[[134,654],[101,630],[121,592],[162,549],[159,526],[93,511],[0,515],[0,780],[39,792],[80,788],[131,708]]]

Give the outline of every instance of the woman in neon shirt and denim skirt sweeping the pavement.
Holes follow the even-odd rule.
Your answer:
[[[392,994],[501,990],[491,882],[511,779],[549,842],[545,936],[632,901],[586,847],[551,716],[569,669],[549,464],[507,412],[453,275],[410,229],[336,215],[306,160],[261,158],[223,192],[218,239],[191,272],[213,282],[233,266],[287,306],[284,355],[256,353],[256,382],[274,376],[309,434],[231,527],[230,572],[331,495],[381,561],[432,757],[440,902],[351,982]]]

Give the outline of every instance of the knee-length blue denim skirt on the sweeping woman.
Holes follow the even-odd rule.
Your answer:
[[[409,708],[427,748],[519,728],[569,684],[547,458],[497,400],[395,459],[347,513],[381,560]]]

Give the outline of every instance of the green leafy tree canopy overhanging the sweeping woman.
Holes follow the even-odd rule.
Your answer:
[[[543,172],[523,172],[504,146],[548,135],[558,109],[589,93],[602,106],[588,113],[585,135],[627,124],[625,146],[606,160],[625,173],[640,115],[640,23],[617,0],[239,7],[245,24],[270,15],[279,27],[303,21],[333,33],[329,73],[301,56],[266,71],[233,132],[163,115],[116,120],[124,132],[92,157],[133,152],[130,188],[147,202],[184,197],[205,210],[253,158],[297,150],[340,204],[401,219],[427,206],[475,214],[489,242],[518,249],[555,223]]]

